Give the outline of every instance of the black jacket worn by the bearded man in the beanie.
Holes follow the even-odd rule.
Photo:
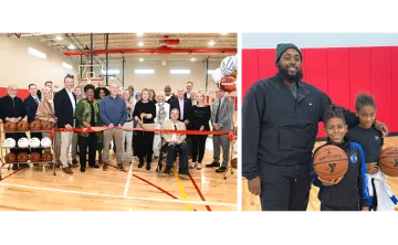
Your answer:
[[[240,108],[240,175],[253,179],[263,164],[294,166],[312,157],[318,122],[332,102],[315,86],[297,83],[297,98],[279,74],[253,84]],[[358,119],[345,110],[348,127]]]

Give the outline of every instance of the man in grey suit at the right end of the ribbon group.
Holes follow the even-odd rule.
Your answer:
[[[216,89],[217,99],[212,105],[211,122],[214,131],[228,131],[233,127],[233,99],[226,96],[220,88]],[[224,172],[228,167],[230,141],[228,135],[212,136],[213,139],[213,162],[207,164],[207,168],[220,167],[220,148],[222,148],[222,164],[216,172]]]

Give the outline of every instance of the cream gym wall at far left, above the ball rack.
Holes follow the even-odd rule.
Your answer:
[[[29,46],[45,53],[46,60],[29,54]],[[62,66],[62,62],[73,66],[71,58],[43,44],[27,39],[0,36],[0,86],[2,87],[17,84],[19,88],[28,89],[28,85],[33,83],[42,88],[46,81],[52,81],[62,88],[66,74],[76,75],[74,66],[72,71],[67,70]]]

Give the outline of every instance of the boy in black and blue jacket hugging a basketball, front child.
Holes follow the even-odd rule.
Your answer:
[[[352,142],[346,136],[347,125],[343,110],[329,105],[325,111],[324,130],[327,135],[327,145],[342,148],[348,157],[348,170],[343,178],[326,181],[313,171],[314,185],[320,188],[318,199],[321,212],[325,211],[369,211],[369,195],[366,181],[365,155],[363,148]],[[324,146],[317,148],[316,152]]]

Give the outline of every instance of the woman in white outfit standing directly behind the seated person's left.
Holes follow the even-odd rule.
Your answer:
[[[155,117],[155,128],[161,129],[161,124],[166,119],[170,119],[170,104],[165,102],[165,93],[159,92],[156,96],[156,117]],[[154,138],[154,153],[155,158],[159,157],[159,149],[161,147],[160,134],[156,132]]]

